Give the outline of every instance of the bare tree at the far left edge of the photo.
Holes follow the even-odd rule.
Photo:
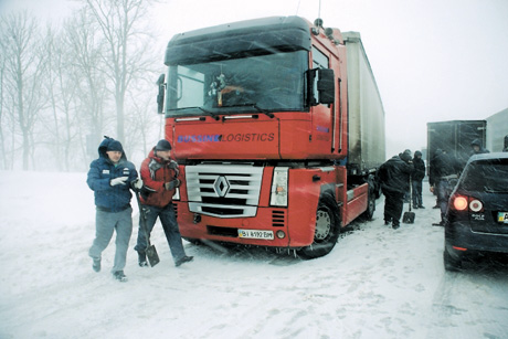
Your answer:
[[[22,136],[23,169],[29,169],[35,145],[32,131],[38,114],[44,107],[41,83],[44,55],[40,47],[39,24],[27,11],[0,19],[1,51],[6,59],[4,91],[13,107],[17,126]]]

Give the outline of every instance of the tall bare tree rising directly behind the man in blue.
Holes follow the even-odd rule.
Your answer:
[[[125,141],[125,99],[131,82],[147,67],[149,36],[138,27],[150,0],[85,0],[107,44],[106,73],[114,85],[117,139]]]

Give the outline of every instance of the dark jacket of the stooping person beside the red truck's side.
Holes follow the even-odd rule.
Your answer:
[[[381,165],[378,171],[378,182],[384,192],[405,193],[410,189],[410,176],[413,172],[413,165],[394,156]]]

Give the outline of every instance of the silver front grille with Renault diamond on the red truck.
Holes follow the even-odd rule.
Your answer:
[[[255,216],[263,168],[242,165],[186,167],[189,210],[219,218]]]

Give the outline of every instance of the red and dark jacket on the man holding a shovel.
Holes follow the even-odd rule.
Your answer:
[[[166,161],[157,157],[157,151],[154,147],[148,158],[142,161],[140,173],[144,183],[142,204],[165,208],[171,203],[176,189],[166,190],[165,183],[178,178],[177,161]]]

